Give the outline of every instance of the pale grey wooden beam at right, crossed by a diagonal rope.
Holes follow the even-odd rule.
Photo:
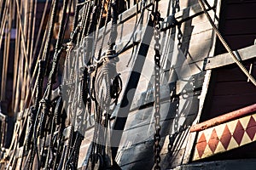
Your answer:
[[[256,57],[256,45],[237,50],[241,60],[253,59]],[[219,54],[214,57],[207,58],[206,70],[215,69],[224,65],[235,64],[230,54]]]

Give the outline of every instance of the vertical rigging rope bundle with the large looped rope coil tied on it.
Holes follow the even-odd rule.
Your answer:
[[[102,0],[102,10],[105,0]],[[95,76],[92,80],[91,91],[94,93],[95,97],[95,108],[96,108],[96,123],[95,130],[93,134],[93,141],[91,143],[90,150],[90,165],[89,167],[93,168],[108,168],[113,165],[111,154],[108,152],[107,141],[110,136],[108,135],[108,124],[112,111],[110,111],[111,100],[114,99],[113,104],[117,104],[117,99],[121,91],[121,80],[119,74],[116,72],[116,62],[118,59],[112,59],[116,56],[115,51],[113,50],[113,45],[117,37],[117,8],[116,1],[109,1],[108,6],[108,15],[105,20],[105,31],[107,27],[107,22],[110,17],[112,17],[112,27],[110,31],[110,37],[108,41],[108,52],[106,52],[105,57],[101,57],[102,43],[100,44],[100,50],[98,59],[96,60],[96,71]],[[111,10],[112,9],[112,10]],[[102,10],[100,16],[100,22],[102,20]],[[112,13],[112,15],[110,15]],[[98,23],[98,26],[100,25]],[[97,28],[97,30],[99,27]],[[103,30],[104,31],[104,30]],[[96,38],[97,38],[96,33]],[[105,35],[102,35],[104,39]],[[97,41],[97,39],[95,40]],[[96,44],[95,44],[96,45]],[[93,57],[93,55],[92,55]]]

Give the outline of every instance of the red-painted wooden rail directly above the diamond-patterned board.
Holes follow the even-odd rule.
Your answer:
[[[240,110],[232,111],[232,112],[224,114],[222,116],[217,116],[217,117],[212,118],[206,122],[201,122],[199,124],[195,124],[192,127],[190,127],[190,133],[200,132],[209,127],[214,127],[214,126],[217,126],[224,122],[230,122],[231,120],[234,120],[238,117],[247,116],[254,111],[256,111],[256,104],[249,105],[247,107],[241,108]]]

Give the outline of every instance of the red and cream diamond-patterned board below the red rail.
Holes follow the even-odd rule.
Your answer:
[[[198,133],[193,161],[256,141],[256,114],[226,122]]]

